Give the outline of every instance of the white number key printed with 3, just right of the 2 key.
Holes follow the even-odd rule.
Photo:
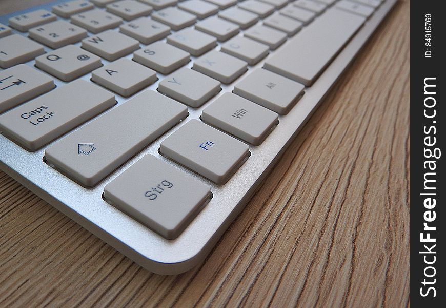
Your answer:
[[[71,16],[71,22],[91,33],[99,33],[116,28],[123,23],[123,18],[95,9]]]

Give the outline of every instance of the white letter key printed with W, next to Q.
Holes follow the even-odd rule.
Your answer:
[[[139,49],[139,42],[117,31],[107,30],[95,36],[84,38],[82,48],[108,61],[114,61]]]

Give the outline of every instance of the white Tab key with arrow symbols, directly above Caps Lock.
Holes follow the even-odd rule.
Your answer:
[[[25,64],[0,71],[0,113],[54,88],[47,75]]]

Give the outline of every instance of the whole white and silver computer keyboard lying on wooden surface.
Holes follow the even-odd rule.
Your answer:
[[[395,1],[74,0],[0,16],[0,166],[150,271],[187,271]]]

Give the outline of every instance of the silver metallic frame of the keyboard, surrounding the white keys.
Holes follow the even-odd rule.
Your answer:
[[[58,0],[50,4],[0,16],[0,23],[8,25],[8,18],[40,8],[51,11],[51,6],[65,1],[67,0]],[[199,119],[202,109],[223,93],[232,91],[234,84],[240,79],[229,85],[222,85],[222,91],[203,106],[196,109],[189,107],[190,114],[187,119],[139,152],[123,166],[116,169],[94,188],[88,189],[76,184],[43,161],[45,148],[66,135],[56,139],[42,149],[29,152],[0,134],[0,168],[34,192],[34,194],[149,271],[163,275],[186,272],[188,269],[201,263],[210,253],[217,240],[224,234],[234,218],[237,217],[250,200],[256,187],[268,175],[300,128],[311,117],[327,91],[353,60],[364,43],[367,42],[370,35],[375,31],[396,1],[387,0],[381,4],[377,11],[358,30],[352,40],[344,46],[313,86],[306,88],[305,95],[303,95],[296,106],[287,115],[279,115],[280,122],[270,136],[261,145],[250,146],[251,156],[225,185],[218,186],[179,166],[159,155],[158,149],[162,140],[190,119]],[[64,18],[60,19],[63,20]],[[306,31],[305,27],[301,31]],[[15,30],[13,32],[21,33]],[[26,35],[26,33],[21,34]],[[89,35],[94,34],[89,33]],[[242,35],[242,31],[238,35]],[[288,41],[285,44],[287,43]],[[80,43],[75,45],[80,45]],[[144,45],[141,44],[141,46]],[[51,51],[50,48],[45,49],[47,52]],[[219,46],[217,49],[219,49]],[[270,54],[274,54],[274,51]],[[132,55],[130,54],[127,57],[131,59]],[[192,61],[188,64],[189,67],[192,67],[195,58],[191,57],[191,59]],[[108,63],[106,60],[102,61],[104,64]],[[262,67],[263,62],[265,62],[265,59],[255,66],[250,66],[249,70]],[[34,61],[30,61],[27,64],[33,66]],[[246,74],[249,74],[249,71],[244,76]],[[90,74],[87,74],[82,79],[89,81],[89,76]],[[244,78],[244,76],[241,78]],[[165,75],[158,74],[158,78],[159,80],[148,87],[148,89],[156,90],[158,82],[163,80]],[[62,81],[53,79],[57,86],[64,84]],[[116,95],[116,99],[118,102],[116,106],[118,106],[130,98]],[[113,108],[116,108],[116,106]],[[126,129],[125,125],[123,129]],[[149,153],[182,169],[211,187],[212,200],[175,240],[166,240],[157,235],[146,226],[105,202],[102,198],[104,186],[107,183]]]

